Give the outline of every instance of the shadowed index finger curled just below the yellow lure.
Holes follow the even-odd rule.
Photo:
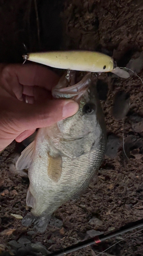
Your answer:
[[[4,73],[7,80],[17,80],[16,83],[23,86],[39,86],[50,91],[59,81],[54,72],[35,64],[11,64],[4,68]]]

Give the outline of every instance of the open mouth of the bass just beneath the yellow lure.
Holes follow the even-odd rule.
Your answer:
[[[74,99],[78,101],[87,92],[91,84],[91,73],[85,75],[78,83],[74,84],[75,71],[70,71],[61,77],[59,83],[52,89],[52,96],[60,99]],[[73,85],[72,85],[73,84]]]

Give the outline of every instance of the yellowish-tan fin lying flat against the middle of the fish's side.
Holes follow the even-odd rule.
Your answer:
[[[54,182],[58,182],[62,174],[62,157],[52,157],[48,154],[48,176]]]

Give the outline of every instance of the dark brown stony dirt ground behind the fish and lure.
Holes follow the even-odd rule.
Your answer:
[[[98,50],[113,55],[118,65],[125,67],[134,52],[142,51],[142,11],[143,4],[139,0],[1,0],[0,60],[22,62],[24,43],[28,51]],[[143,78],[142,72],[138,75]],[[100,98],[104,98],[101,103],[107,133],[119,137],[110,149],[115,154],[105,156],[98,179],[93,180],[80,199],[71,200],[56,210],[55,219],[40,234],[32,228],[23,227],[20,219],[11,216],[26,214],[28,178],[26,174],[21,175],[25,177],[20,177],[9,169],[14,154],[20,153],[22,146],[13,142],[6,148],[0,155],[0,253],[3,251],[2,245],[6,246],[11,240],[17,241],[21,237],[26,237],[32,243],[41,242],[48,251],[53,252],[94,237],[99,232],[114,230],[143,219],[143,86],[136,76],[122,79],[102,74],[98,78],[108,86],[107,97],[106,90],[102,90]],[[114,97],[120,90],[130,94],[130,110],[127,109],[128,114],[126,113],[124,120],[116,120],[111,112]],[[124,109],[126,107],[127,104]],[[128,138],[125,143],[128,158],[123,152],[123,134],[125,141]],[[4,232],[6,229],[11,234],[7,235]],[[102,255],[141,256],[143,230],[135,232],[136,230],[105,241],[98,247],[88,247],[69,255],[96,256],[97,251],[102,252],[132,234]]]

